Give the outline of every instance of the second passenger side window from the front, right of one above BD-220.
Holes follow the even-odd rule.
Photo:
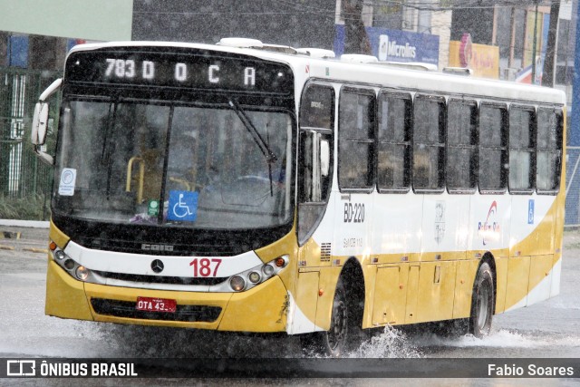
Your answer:
[[[411,186],[411,96],[381,93],[378,101],[377,186],[407,192]]]

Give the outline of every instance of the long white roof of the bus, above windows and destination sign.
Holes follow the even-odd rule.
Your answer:
[[[566,102],[564,92],[536,85],[448,73],[425,72],[401,68],[401,66],[391,66],[388,63],[353,63],[336,58],[315,58],[300,53],[280,53],[227,45],[153,41],[109,42],[79,44],[74,46],[70,53],[108,47],[179,47],[227,53],[244,53],[256,58],[290,65],[295,74],[298,75],[296,76],[296,81],[317,78],[328,82],[364,83],[401,91],[429,91],[441,94],[561,105],[565,105]]]

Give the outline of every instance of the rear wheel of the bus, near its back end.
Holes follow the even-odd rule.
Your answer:
[[[488,263],[484,262],[479,266],[478,276],[473,285],[469,334],[473,334],[476,337],[483,337],[489,334],[494,305],[493,276]]]

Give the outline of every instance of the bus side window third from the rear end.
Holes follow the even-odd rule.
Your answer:
[[[479,192],[504,192],[507,185],[507,109],[482,103],[479,109]]]

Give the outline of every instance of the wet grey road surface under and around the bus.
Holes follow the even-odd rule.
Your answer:
[[[0,239],[0,357],[304,356],[295,337],[240,336],[48,317],[43,313],[46,255],[41,252],[47,230],[11,229],[20,230],[23,238]],[[4,249],[9,247],[13,249]],[[387,329],[362,343],[349,357],[580,358],[579,277],[580,232],[566,232],[561,294],[556,298],[494,316],[492,334],[484,339]]]

